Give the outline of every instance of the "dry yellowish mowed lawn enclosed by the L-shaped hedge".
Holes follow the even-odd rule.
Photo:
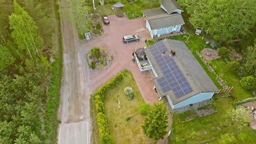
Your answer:
[[[133,100],[128,100],[124,94],[125,87],[132,87],[135,92]],[[118,109],[118,100],[120,100],[120,109]],[[154,140],[144,135],[141,128],[146,117],[139,113],[138,106],[143,103],[144,100],[130,73],[105,94],[105,114],[110,135],[114,137],[115,143],[154,143]],[[131,119],[126,121],[125,118],[128,116],[131,116]]]

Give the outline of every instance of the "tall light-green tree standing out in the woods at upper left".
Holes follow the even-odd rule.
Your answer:
[[[19,51],[26,51],[31,58],[39,56],[38,50],[43,47],[43,39],[38,35],[36,23],[32,17],[14,0],[14,13],[9,16],[11,36],[18,45]]]

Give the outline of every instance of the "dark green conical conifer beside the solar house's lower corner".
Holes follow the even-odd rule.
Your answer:
[[[155,141],[164,139],[164,136],[167,134],[167,119],[167,106],[162,101],[155,103],[152,109],[150,109],[148,117],[146,117],[141,125],[143,133]]]

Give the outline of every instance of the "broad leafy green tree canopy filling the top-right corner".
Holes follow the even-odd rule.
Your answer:
[[[179,0],[190,14],[189,22],[202,27],[214,39],[231,42],[250,33],[255,23],[255,1],[250,0]]]

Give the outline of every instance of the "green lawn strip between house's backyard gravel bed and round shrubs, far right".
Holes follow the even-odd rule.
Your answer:
[[[212,66],[216,74],[218,74],[222,78],[226,85],[228,85],[229,87],[234,87],[232,89],[232,92],[233,96],[236,99],[242,100],[253,97],[251,91],[248,91],[240,85],[240,76],[232,73],[232,71],[226,68],[226,64],[227,63],[223,58],[214,59],[210,62],[210,65]]]

